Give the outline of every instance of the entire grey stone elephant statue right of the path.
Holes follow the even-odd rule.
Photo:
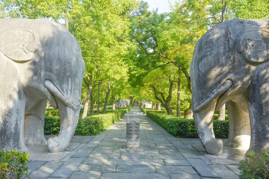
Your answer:
[[[227,104],[228,147],[269,150],[269,20],[227,20],[208,30],[190,66],[192,104],[205,150],[221,155],[213,114]]]

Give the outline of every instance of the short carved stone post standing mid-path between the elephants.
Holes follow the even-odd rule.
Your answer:
[[[137,149],[140,147],[140,137],[139,137],[140,119],[136,118],[135,115],[131,115],[130,118],[127,119],[126,123],[127,123],[126,148]]]

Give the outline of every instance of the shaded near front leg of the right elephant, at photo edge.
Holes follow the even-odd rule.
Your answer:
[[[256,69],[249,96],[251,144],[248,152],[269,150],[269,65]]]

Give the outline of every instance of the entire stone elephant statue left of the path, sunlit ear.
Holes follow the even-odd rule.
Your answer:
[[[0,149],[25,144],[63,152],[76,130],[84,61],[76,38],[44,19],[0,19]],[[60,133],[44,138],[47,100],[60,113]]]

